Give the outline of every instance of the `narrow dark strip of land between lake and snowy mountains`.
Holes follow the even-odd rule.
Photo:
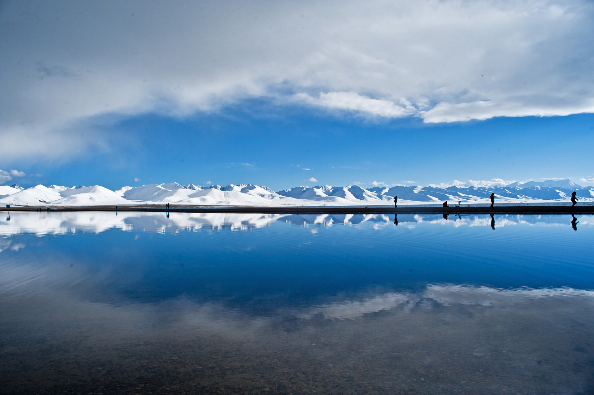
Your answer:
[[[170,206],[165,205],[127,205],[127,206],[53,206],[53,207],[14,207],[1,208],[1,211],[142,211],[142,212],[196,212],[228,214],[592,214],[594,205],[576,206],[475,206],[475,207],[249,207],[249,206]]]

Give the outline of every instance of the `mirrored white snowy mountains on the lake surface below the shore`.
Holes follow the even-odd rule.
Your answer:
[[[566,218],[567,217],[567,218]],[[594,224],[592,216],[564,215],[501,215],[497,218],[497,228],[517,224],[570,224],[575,229],[579,219],[580,226]],[[302,227],[333,225],[356,226],[369,224],[373,228],[383,228],[400,224],[415,227],[417,224],[449,225],[453,227],[493,226],[489,215],[469,215],[444,219],[441,215],[403,215],[397,222],[383,214],[344,214],[344,215],[283,215],[283,214],[210,214],[210,213],[146,213],[146,212],[19,212],[11,219],[0,222],[0,235],[14,235],[22,232],[43,234],[67,234],[74,232],[100,233],[110,229],[123,231],[147,231],[175,233],[203,229],[222,229],[248,231],[265,228],[274,222],[301,225]]]

